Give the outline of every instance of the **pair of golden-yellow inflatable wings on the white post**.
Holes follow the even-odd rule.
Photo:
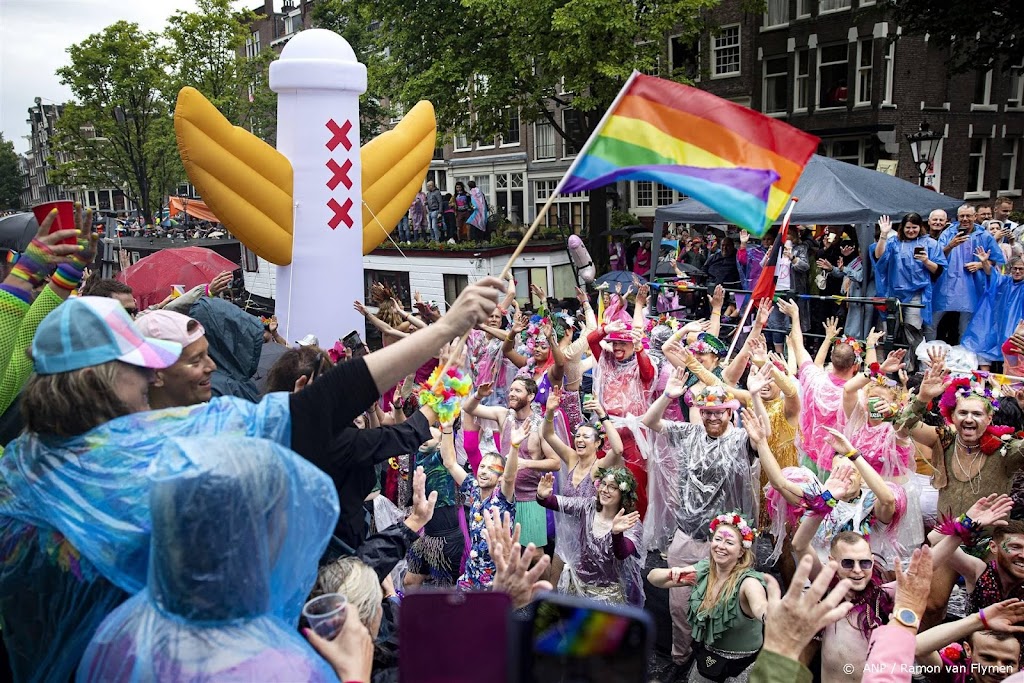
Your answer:
[[[174,110],[178,152],[210,210],[246,247],[276,265],[292,262],[292,165],[249,131],[232,126],[195,88]],[[409,210],[433,158],[434,108],[422,101],[359,151],[362,253],[376,249]]]

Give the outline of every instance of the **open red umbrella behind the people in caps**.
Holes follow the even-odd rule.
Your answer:
[[[182,247],[151,254],[119,272],[117,279],[132,288],[135,303],[142,309],[166,299],[174,285],[183,285],[187,291],[238,267],[211,249]]]

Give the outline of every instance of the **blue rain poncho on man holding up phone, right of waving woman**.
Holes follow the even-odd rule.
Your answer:
[[[939,236],[939,247],[945,247],[952,242],[957,231],[959,231],[958,222],[943,230]],[[972,312],[978,309],[978,299],[985,291],[985,272],[980,268],[973,273],[968,272],[967,264],[978,260],[974,252],[979,247],[989,253],[988,258],[993,266],[1007,262],[995,238],[981,225],[975,224],[971,238],[964,244],[953,247],[946,257],[946,267],[942,271],[942,276],[935,283],[935,295],[932,297],[934,312],[939,313],[944,310]]]

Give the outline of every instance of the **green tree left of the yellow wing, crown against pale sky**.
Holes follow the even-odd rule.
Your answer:
[[[57,70],[75,100],[54,136],[54,181],[120,187],[143,215],[182,177],[172,110],[162,94],[168,51],[155,33],[117,22],[68,48]]]

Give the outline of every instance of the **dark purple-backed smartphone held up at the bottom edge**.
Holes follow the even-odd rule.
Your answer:
[[[398,620],[399,683],[506,683],[511,622],[505,593],[410,593]]]

